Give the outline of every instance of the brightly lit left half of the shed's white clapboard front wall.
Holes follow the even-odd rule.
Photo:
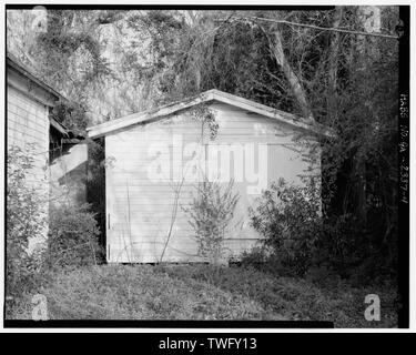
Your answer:
[[[180,164],[177,159],[171,158],[170,152],[168,155],[168,152],[155,152],[158,145],[162,144],[170,150],[179,146],[172,143],[175,134],[181,134],[184,144],[199,142],[202,133],[200,122],[173,121],[175,123],[172,124],[136,125],[105,138],[106,156],[112,160],[111,168],[106,170],[106,203],[111,221],[108,230],[109,262],[158,262],[171,229],[175,201],[177,211],[164,260],[180,262],[197,258],[196,245],[190,237],[192,230],[182,210],[191,203],[194,186],[184,183],[177,200],[174,191],[177,182],[172,182],[168,176],[164,182],[152,182],[146,170],[156,156],[168,158],[170,166]],[[183,132],[186,133],[182,135]],[[126,241],[130,242],[128,246],[124,245]]]

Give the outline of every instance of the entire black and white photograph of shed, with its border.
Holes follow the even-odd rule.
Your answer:
[[[409,326],[409,6],[3,10],[6,327]]]

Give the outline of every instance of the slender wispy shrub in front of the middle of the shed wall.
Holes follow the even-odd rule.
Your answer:
[[[193,200],[190,224],[195,231],[200,255],[217,264],[224,256],[224,239],[234,215],[239,194],[233,193],[234,182],[226,186],[205,180],[199,186],[199,195]]]

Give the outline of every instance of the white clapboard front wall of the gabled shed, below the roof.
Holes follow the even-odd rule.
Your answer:
[[[196,185],[189,180],[181,185],[182,173],[186,170],[181,166],[186,165],[192,156],[187,151],[184,152],[186,156],[181,158],[181,150],[189,143],[200,149],[200,168],[207,165],[206,160],[214,153],[211,149],[219,144],[233,144],[229,152],[232,161],[230,168],[234,168],[231,178],[239,172],[236,156],[240,150],[244,153],[244,149],[247,149],[253,156],[252,161],[245,160],[240,166],[243,173],[246,173],[247,164],[255,166],[254,174],[258,173],[258,153],[267,154],[264,161],[267,170],[264,187],[278,178],[301,183],[300,175],[307,171],[307,162],[302,160],[302,154],[307,149],[296,141],[298,132],[292,126],[224,103],[213,103],[211,109],[219,123],[215,140],[211,140],[207,129],[191,119],[186,111],[105,135],[105,155],[109,160],[105,178],[109,262],[159,262],[170,231],[163,261],[201,261],[186,212],[196,194]],[[151,180],[149,164],[162,159],[168,173],[159,180]],[[221,164],[222,161],[219,166]],[[196,175],[201,174],[199,172]],[[261,174],[264,175],[264,172]],[[179,185],[177,197],[175,191]],[[240,201],[224,243],[229,255],[239,255],[260,239],[250,226],[247,216],[248,206],[255,206],[262,190],[255,186],[255,183],[245,180],[235,182]],[[174,209],[176,213],[173,217]]]

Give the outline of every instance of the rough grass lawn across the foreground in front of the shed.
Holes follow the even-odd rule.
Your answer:
[[[395,290],[280,277],[244,267],[102,265],[54,273],[37,293],[51,320],[316,320],[336,327],[395,327]],[[381,322],[364,297],[378,294]],[[31,318],[31,295],[7,310]]]

